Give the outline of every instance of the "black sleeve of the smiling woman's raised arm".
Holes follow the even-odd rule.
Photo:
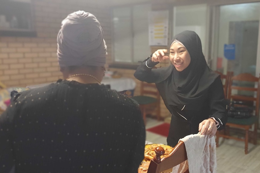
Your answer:
[[[151,56],[150,55],[148,58],[146,58],[140,66],[137,67],[137,70],[134,73],[134,76],[136,79],[148,83],[155,83],[156,77],[156,70],[157,69],[152,69],[156,64],[159,62],[152,62],[151,61]],[[158,76],[159,77],[159,76]]]

